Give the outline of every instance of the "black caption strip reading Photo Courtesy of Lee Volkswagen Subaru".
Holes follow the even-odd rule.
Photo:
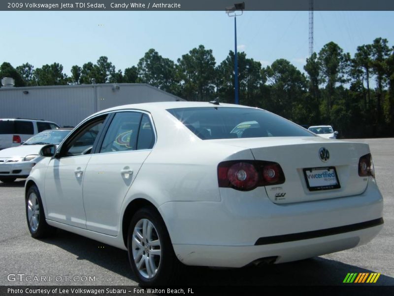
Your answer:
[[[394,295],[393,286],[0,286],[1,296]]]

